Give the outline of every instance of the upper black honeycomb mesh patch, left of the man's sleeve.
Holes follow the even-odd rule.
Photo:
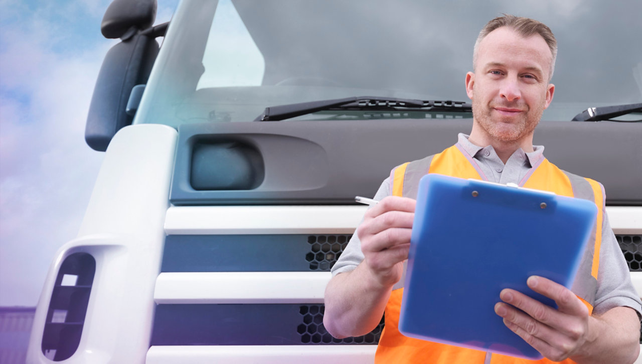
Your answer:
[[[348,245],[352,235],[309,235],[310,251],[306,260],[310,270],[329,271]]]

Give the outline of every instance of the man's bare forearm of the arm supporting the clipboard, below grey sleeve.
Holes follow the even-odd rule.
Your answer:
[[[639,319],[634,309],[615,307],[589,322],[589,341],[571,359],[580,364],[633,363],[639,354]]]

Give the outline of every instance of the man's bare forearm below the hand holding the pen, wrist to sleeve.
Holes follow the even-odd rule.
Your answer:
[[[336,338],[367,334],[381,321],[391,291],[374,280],[364,262],[334,276],[325,288],[325,329]]]

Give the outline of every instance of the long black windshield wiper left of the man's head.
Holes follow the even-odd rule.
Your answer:
[[[296,116],[317,113],[325,110],[377,110],[377,111],[445,111],[454,113],[472,113],[471,104],[462,101],[428,101],[412,98],[394,98],[380,96],[355,96],[334,98],[266,107],[255,122],[275,122]]]

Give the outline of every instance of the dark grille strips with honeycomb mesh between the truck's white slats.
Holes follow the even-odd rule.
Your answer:
[[[169,235],[162,271],[329,271],[351,235]],[[642,235],[616,235],[642,271]],[[160,304],[152,345],[376,345],[374,331],[333,338],[323,304]],[[642,331],[641,341],[642,343]]]

